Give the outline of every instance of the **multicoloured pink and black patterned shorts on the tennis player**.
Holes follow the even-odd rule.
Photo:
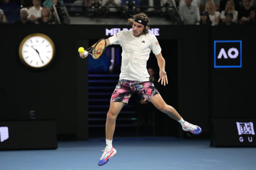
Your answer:
[[[138,93],[143,101],[159,92],[151,81],[119,80],[110,101],[128,103],[133,94]]]

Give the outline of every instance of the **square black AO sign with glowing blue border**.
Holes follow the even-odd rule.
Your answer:
[[[214,68],[241,68],[242,41],[214,41]]]

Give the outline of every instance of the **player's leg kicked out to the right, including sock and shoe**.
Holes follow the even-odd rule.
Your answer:
[[[192,125],[188,123],[187,121],[184,121],[183,118],[181,118],[178,111],[176,111],[173,107],[166,104],[164,99],[161,97],[160,94],[156,94],[150,99],[148,99],[153,105],[159,109],[160,111],[166,113],[169,117],[174,118],[176,121],[180,122],[182,125],[182,129],[184,131],[192,132],[194,135],[199,135],[202,132],[202,129],[197,125]]]

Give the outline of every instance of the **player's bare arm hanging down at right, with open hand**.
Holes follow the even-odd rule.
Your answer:
[[[159,66],[158,82],[160,82],[160,80],[161,80],[161,85],[163,85],[163,83],[164,83],[164,86],[165,86],[165,84],[168,84],[168,79],[167,79],[167,73],[165,72],[165,60],[164,60],[164,57],[162,56],[161,52],[156,55],[156,59],[157,59],[157,63]]]

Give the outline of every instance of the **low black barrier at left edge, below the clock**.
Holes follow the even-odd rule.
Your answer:
[[[0,150],[57,149],[55,121],[0,121]]]

